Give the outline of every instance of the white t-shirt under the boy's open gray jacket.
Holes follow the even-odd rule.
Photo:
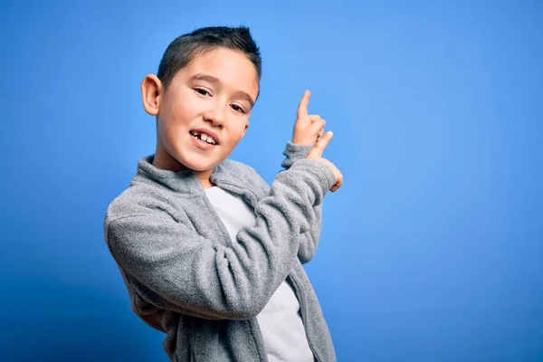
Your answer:
[[[214,186],[205,189],[215,211],[236,243],[235,235],[245,226],[254,225],[256,217],[241,196]],[[300,315],[300,303],[291,284],[285,280],[256,317],[270,362],[313,362],[313,353]]]

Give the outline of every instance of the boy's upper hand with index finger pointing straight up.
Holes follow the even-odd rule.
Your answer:
[[[308,114],[310,97],[310,90],[306,90],[298,106],[294,131],[292,132],[292,143],[295,145],[313,146],[324,135],[326,121],[317,114]]]

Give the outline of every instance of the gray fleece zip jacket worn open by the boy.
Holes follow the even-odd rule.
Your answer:
[[[321,203],[335,183],[329,167],[290,142],[268,186],[242,163],[224,160],[211,181],[241,195],[256,224],[233,243],[191,171],[138,160],[129,188],[113,200],[105,241],[127,285],[132,310],[167,333],[172,361],[267,361],[256,316],[289,278],[300,300],[310,348],[335,361],[329,329],[302,263],[319,242]]]

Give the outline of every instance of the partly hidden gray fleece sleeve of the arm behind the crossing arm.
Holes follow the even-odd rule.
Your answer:
[[[307,157],[311,148],[311,146],[295,145],[292,142],[287,142],[285,150],[283,151],[285,159],[281,163],[281,167],[284,169],[289,169],[296,161]],[[326,171],[335,179],[335,176],[333,175],[332,171],[328,169],[328,167]],[[310,262],[313,259],[313,256],[315,256],[315,252],[317,252],[320,239],[320,229],[322,225],[322,204],[313,206],[313,214],[314,220],[312,220],[312,223],[310,224],[310,229],[306,233],[300,234],[298,259],[300,259],[302,264]]]

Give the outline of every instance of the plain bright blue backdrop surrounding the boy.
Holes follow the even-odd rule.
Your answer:
[[[0,360],[167,360],[102,218],[154,152],[139,82],[214,24],[264,60],[233,158],[271,181],[306,88],[335,131],[307,271],[338,360],[543,360],[541,2],[0,4]]]

